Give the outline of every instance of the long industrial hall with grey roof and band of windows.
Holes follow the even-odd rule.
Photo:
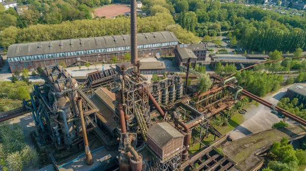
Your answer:
[[[142,33],[137,40],[138,58],[174,55],[179,43],[172,32]],[[13,72],[56,64],[106,63],[114,57],[119,61],[130,50],[131,35],[105,36],[13,44],[8,48],[7,59]]]

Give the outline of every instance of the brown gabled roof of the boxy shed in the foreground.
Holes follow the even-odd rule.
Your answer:
[[[164,147],[172,138],[184,137],[173,126],[167,122],[161,122],[153,125],[147,132],[149,136],[159,147]]]

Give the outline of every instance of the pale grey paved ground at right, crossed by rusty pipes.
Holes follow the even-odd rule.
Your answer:
[[[277,104],[278,101],[286,94],[288,87],[283,88],[276,93],[267,94],[263,99],[273,104]],[[283,120],[282,118],[278,118],[276,115],[271,113],[271,109],[262,104],[259,104],[258,107],[252,104],[246,110],[246,121],[230,132],[234,139],[239,139],[251,133],[270,129],[274,123]],[[287,123],[290,125],[298,124],[291,120],[287,120]]]

